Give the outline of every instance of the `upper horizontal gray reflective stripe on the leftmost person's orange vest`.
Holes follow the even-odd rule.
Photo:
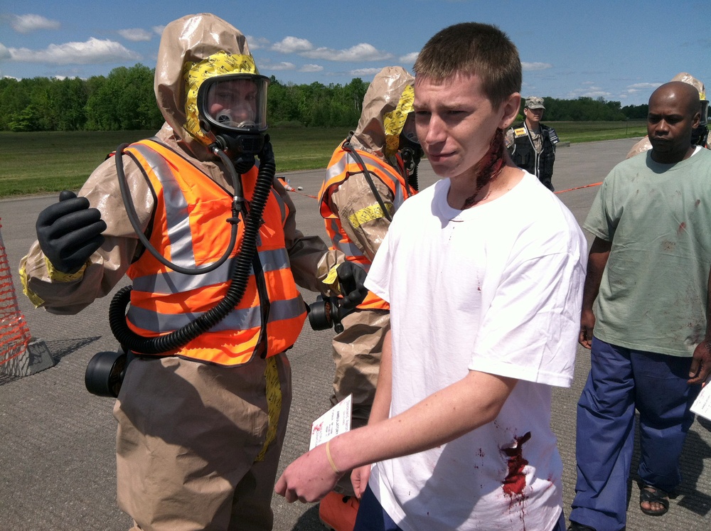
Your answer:
[[[262,262],[262,271],[264,272],[278,271],[289,267],[289,255],[286,249],[260,251],[259,256],[260,262]],[[161,295],[184,293],[191,289],[222,284],[230,278],[231,269],[232,260],[228,260],[214,271],[205,274],[188,275],[169,271],[136,277],[133,280],[133,286],[137,291]],[[255,274],[254,269],[251,267],[250,274]]]

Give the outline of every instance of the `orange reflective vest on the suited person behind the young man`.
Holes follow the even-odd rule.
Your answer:
[[[365,167],[368,168],[370,177],[373,180],[380,179],[387,188],[390,188],[393,198],[392,207],[395,211],[400,208],[405,199],[415,194],[415,191],[407,184],[407,171],[405,171],[405,164],[402,162],[400,154],[395,155],[397,169],[366,151],[359,149],[358,154],[363,159]],[[370,269],[370,259],[351,241],[346,231],[343,230],[341,219],[331,210],[331,193],[338,188],[338,185],[356,173],[363,173],[363,168],[360,168],[351,153],[343,149],[343,145],[339,146],[336,151],[333,151],[331,161],[328,163],[326,180],[321,185],[321,191],[319,192],[319,204],[321,205],[321,216],[326,220],[326,232],[328,232],[328,236],[331,237],[331,242],[333,242],[331,249],[341,250],[346,255],[346,259],[360,264],[365,271],[368,271]],[[373,198],[373,202],[375,203],[374,207],[378,210],[375,215],[383,215],[380,213],[380,206],[375,198]],[[390,212],[390,215],[393,215],[395,211]],[[358,305],[358,308],[387,310],[390,309],[390,306],[372,291],[368,291],[368,295]]]

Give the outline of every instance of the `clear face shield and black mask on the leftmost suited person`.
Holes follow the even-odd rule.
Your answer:
[[[201,129],[232,159],[259,154],[264,145],[267,85],[264,75],[229,74],[209,77],[198,89]]]

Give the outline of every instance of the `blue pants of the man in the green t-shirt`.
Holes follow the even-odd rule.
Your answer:
[[[597,530],[625,527],[627,482],[639,412],[638,476],[674,490],[700,386],[688,385],[691,358],[631,350],[593,338],[590,374],[577,405],[577,483],[570,520]]]

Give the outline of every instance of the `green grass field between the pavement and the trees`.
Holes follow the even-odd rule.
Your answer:
[[[646,134],[646,122],[545,122],[571,143]],[[153,131],[0,132],[0,198],[77,190],[119,144]],[[270,129],[277,173],[325,168],[346,129]]]

